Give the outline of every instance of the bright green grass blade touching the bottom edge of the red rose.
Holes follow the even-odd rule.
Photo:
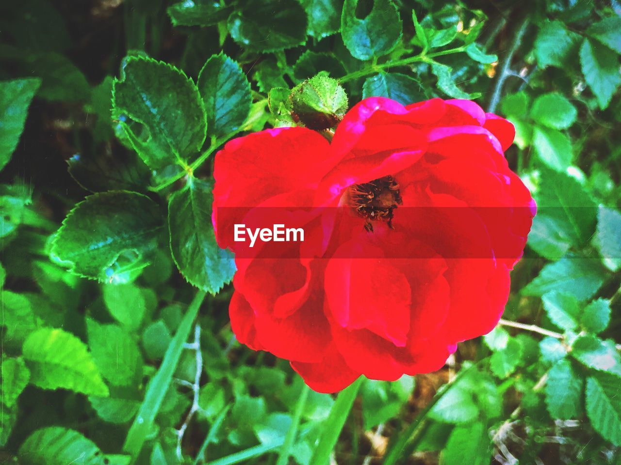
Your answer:
[[[360,389],[363,379],[361,376],[338,393],[337,400],[332,405],[329,417],[322,423],[323,430],[309,463],[313,465],[327,465],[329,463],[330,454],[334,446],[337,445],[338,436],[340,436],[343,430],[345,420],[347,420],[351,407],[353,407],[353,402],[356,400],[356,394],[358,394],[358,389]]]

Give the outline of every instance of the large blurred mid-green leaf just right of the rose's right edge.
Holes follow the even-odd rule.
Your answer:
[[[543,169],[536,200],[537,216],[549,218],[550,228],[556,230],[553,241],[584,246],[591,240],[597,205],[578,180],[566,173]]]

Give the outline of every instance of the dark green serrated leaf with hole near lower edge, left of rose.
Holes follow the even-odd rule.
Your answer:
[[[158,205],[135,192],[96,193],[70,211],[52,244],[52,259],[70,272],[126,282],[148,265],[163,227]]]

